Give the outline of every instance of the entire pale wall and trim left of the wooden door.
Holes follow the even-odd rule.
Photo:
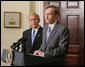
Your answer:
[[[4,28],[4,12],[21,12],[21,28]],[[1,56],[2,50],[8,49],[22,37],[22,32],[30,28],[28,15],[37,13],[43,27],[43,1],[1,1]],[[1,61],[1,66],[7,64]]]

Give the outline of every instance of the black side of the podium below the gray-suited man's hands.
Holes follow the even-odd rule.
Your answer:
[[[58,62],[61,61],[55,58],[46,58],[41,56],[25,54],[24,62],[26,66],[56,66],[58,65]]]

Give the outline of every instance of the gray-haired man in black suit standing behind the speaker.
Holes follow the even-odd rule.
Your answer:
[[[22,44],[22,52],[33,54],[42,43],[42,27],[39,25],[40,18],[36,13],[29,15],[29,23],[32,28],[23,32],[23,38],[27,39]]]

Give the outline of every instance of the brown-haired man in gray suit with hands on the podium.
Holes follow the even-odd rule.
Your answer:
[[[46,25],[43,27],[43,41],[34,55],[55,58],[56,65],[65,65],[65,57],[69,47],[69,30],[58,21],[60,10],[54,5],[45,9]],[[57,61],[59,59],[60,61]]]

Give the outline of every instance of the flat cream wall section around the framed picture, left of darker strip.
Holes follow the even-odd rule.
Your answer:
[[[28,15],[30,13],[29,1],[1,1],[1,53],[3,49],[8,49],[22,37],[22,32],[30,28]],[[4,12],[21,12],[21,28],[4,28]],[[2,66],[5,66],[3,62]]]

